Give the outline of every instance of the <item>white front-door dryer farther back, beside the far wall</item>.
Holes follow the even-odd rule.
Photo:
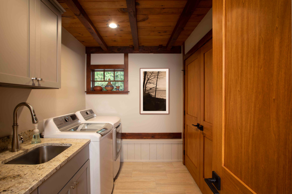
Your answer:
[[[92,109],[75,113],[83,123],[110,123],[113,125],[113,176],[117,176],[121,165],[122,123],[117,116],[96,116]]]

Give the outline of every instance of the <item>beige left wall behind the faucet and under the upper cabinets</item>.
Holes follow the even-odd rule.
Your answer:
[[[85,46],[62,27],[61,89],[0,87],[0,137],[12,134],[13,110],[20,102],[30,103],[39,120],[85,108]],[[34,128],[28,108],[18,111],[19,131]]]

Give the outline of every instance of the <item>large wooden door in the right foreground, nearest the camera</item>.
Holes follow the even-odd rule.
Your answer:
[[[292,193],[291,38],[290,0],[213,1],[221,194]]]

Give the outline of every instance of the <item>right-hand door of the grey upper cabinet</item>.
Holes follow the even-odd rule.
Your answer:
[[[38,86],[61,87],[61,14],[48,1],[37,0],[36,74]]]

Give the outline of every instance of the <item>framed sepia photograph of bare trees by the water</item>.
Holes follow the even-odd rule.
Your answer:
[[[140,68],[140,114],[169,114],[168,68]]]

